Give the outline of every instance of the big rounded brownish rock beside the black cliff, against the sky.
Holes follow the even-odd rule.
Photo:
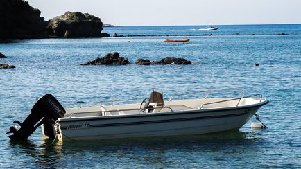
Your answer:
[[[102,26],[94,15],[68,11],[49,20],[47,30],[54,37],[101,37]]]

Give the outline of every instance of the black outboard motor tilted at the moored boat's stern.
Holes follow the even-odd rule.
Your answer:
[[[40,125],[44,124],[44,131],[46,136],[54,137],[56,132],[54,130],[55,121],[65,115],[66,111],[64,107],[56,100],[51,94],[45,94],[42,98],[38,99],[33,108],[31,114],[20,123],[14,121],[21,126],[19,130],[15,127],[10,127],[10,131],[6,134],[13,133],[10,135],[10,139],[14,140],[25,140]]]

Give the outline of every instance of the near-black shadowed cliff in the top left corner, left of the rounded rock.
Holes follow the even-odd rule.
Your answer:
[[[40,10],[23,0],[0,1],[0,39],[47,37],[47,22]]]

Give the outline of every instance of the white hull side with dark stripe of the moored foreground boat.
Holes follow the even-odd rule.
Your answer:
[[[60,121],[60,141],[177,136],[234,130],[262,105],[234,109],[199,109],[162,114],[106,116]]]

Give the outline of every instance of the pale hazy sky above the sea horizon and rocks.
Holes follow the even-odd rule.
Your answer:
[[[27,0],[46,20],[88,12],[117,26],[301,24],[301,0]]]

